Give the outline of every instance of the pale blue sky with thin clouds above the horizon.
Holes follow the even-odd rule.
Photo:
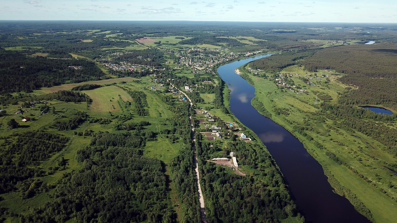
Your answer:
[[[397,1],[0,0],[0,20],[397,23]]]

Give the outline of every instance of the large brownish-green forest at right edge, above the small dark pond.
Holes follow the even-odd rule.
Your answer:
[[[347,74],[339,80],[358,89],[343,94],[342,104],[397,108],[396,53],[393,44],[348,45],[320,50],[303,64],[311,72],[332,69]]]

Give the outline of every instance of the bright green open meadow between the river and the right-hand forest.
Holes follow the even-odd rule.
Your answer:
[[[337,76],[341,74],[331,74],[320,70],[316,73],[317,77],[322,80],[316,80],[314,78],[314,73],[306,73],[303,67],[291,66],[281,71],[281,73],[283,72],[298,73],[298,75],[293,75],[292,80],[295,85],[307,90],[308,94],[298,95],[296,92],[290,92],[289,90],[281,92],[269,79],[258,78],[258,76],[249,74],[249,77],[251,77],[254,82],[256,97],[264,104],[266,110],[272,113],[272,120],[292,133],[294,133],[292,128],[293,125],[298,123],[304,125],[304,121],[308,121],[308,124],[314,129],[314,131],[305,131],[308,135],[312,136],[317,142],[320,142],[340,160],[354,167],[358,173],[368,177],[368,179],[372,180],[372,183],[367,183],[344,165],[339,165],[328,158],[326,150],[318,149],[314,146],[313,141],[309,141],[305,137],[294,133],[294,135],[303,142],[308,152],[318,160],[322,166],[326,166],[342,186],[349,188],[351,192],[356,194],[357,198],[371,211],[376,221],[394,222],[395,219],[397,219],[397,205],[394,200],[385,196],[381,190],[385,190],[387,194],[392,197],[397,196],[397,189],[394,187],[388,188],[387,186],[389,182],[396,185],[397,177],[388,169],[385,169],[382,164],[382,161],[395,163],[395,158],[385,152],[383,146],[379,142],[376,142],[368,136],[355,132],[354,135],[361,137],[361,139],[359,139],[354,137],[353,133],[342,129],[329,129],[327,125],[333,125],[331,120],[326,121],[326,123],[321,123],[310,118],[312,116],[311,112],[318,112],[318,107],[315,105],[316,95],[313,94],[313,91],[329,94],[333,100],[328,103],[336,103],[338,97],[337,92],[343,92],[345,89],[345,85],[337,82]],[[307,77],[312,75],[311,77],[313,77],[313,79],[311,81],[313,81],[316,86],[310,86],[298,78],[304,77],[305,75]],[[326,78],[322,77],[322,75],[330,75],[328,84],[325,83]],[[320,100],[318,103],[320,103]],[[273,111],[274,108],[288,108],[290,115],[276,115]],[[291,125],[291,123],[293,124]],[[343,142],[343,145],[341,146],[337,142]],[[374,148],[369,148],[366,146],[365,142],[369,142]],[[358,146],[362,146],[362,150],[360,150]],[[379,160],[374,160],[371,156]],[[380,179],[376,177],[376,175],[379,175]]]

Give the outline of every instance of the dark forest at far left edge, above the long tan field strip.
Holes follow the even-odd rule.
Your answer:
[[[32,92],[37,88],[61,85],[65,81],[80,83],[106,78],[95,63],[88,60],[27,57],[24,54],[0,49],[1,94]]]

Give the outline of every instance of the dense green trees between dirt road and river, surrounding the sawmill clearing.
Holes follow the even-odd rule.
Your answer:
[[[238,140],[220,148],[210,146],[201,135],[196,135],[196,149],[208,222],[279,222],[297,215],[274,160],[259,144],[251,146]],[[206,161],[217,151],[222,151],[224,156],[235,152],[239,163],[251,166],[256,173],[243,177],[227,173],[225,167]]]

